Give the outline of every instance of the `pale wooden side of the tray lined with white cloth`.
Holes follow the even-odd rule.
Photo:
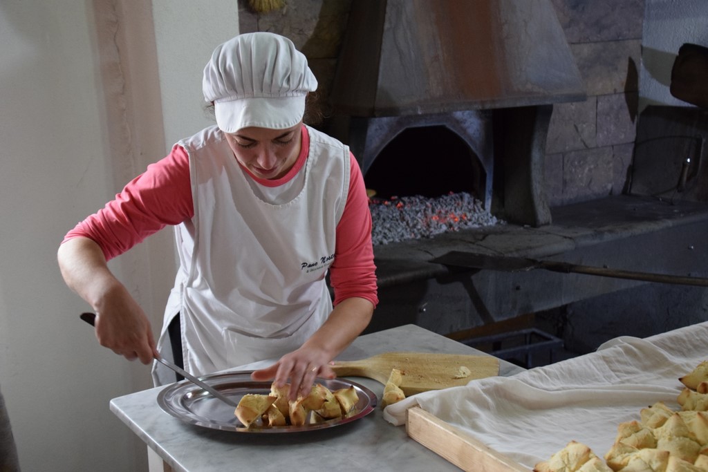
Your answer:
[[[529,471],[517,461],[417,406],[406,410],[406,432],[409,437],[463,471]]]

